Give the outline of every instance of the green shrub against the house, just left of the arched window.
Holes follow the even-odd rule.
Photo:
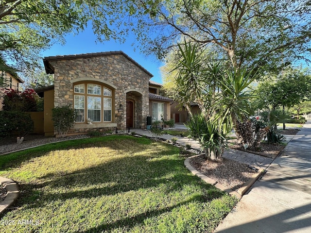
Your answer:
[[[73,126],[74,119],[74,110],[69,106],[56,107],[52,109],[53,125],[61,137],[67,136],[69,129]]]

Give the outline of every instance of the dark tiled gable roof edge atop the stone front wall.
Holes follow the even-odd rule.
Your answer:
[[[153,74],[151,74],[144,67],[140,66],[135,60],[130,58],[123,51],[107,51],[107,52],[93,52],[93,53],[74,54],[74,55],[50,56],[50,57],[44,57],[43,58],[43,64],[45,67],[45,71],[48,74],[53,74],[54,73],[54,67],[51,66],[51,64],[49,63],[50,61],[72,60],[72,59],[77,59],[77,58],[100,57],[100,56],[120,55],[120,54],[123,55],[124,57],[126,57],[131,62],[133,62],[136,66],[138,66],[140,69],[142,69],[150,77],[153,77]]]

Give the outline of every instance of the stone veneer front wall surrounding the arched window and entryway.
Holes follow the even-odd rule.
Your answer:
[[[149,115],[149,79],[152,75],[123,52],[82,55],[85,56],[45,58],[54,73],[54,107],[73,106],[74,83],[100,82],[113,90],[113,116],[110,123],[76,123],[69,133],[114,130],[115,127],[125,129],[127,99],[134,101],[134,127],[145,128],[146,116]],[[120,104],[124,112],[118,113]]]

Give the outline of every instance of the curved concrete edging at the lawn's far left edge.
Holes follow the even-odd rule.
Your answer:
[[[0,214],[8,207],[12,206],[19,196],[18,185],[15,181],[0,177],[0,184],[5,187],[6,198],[0,202]]]

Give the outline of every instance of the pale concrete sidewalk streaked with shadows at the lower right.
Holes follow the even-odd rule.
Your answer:
[[[311,122],[294,136],[215,233],[311,233]]]

